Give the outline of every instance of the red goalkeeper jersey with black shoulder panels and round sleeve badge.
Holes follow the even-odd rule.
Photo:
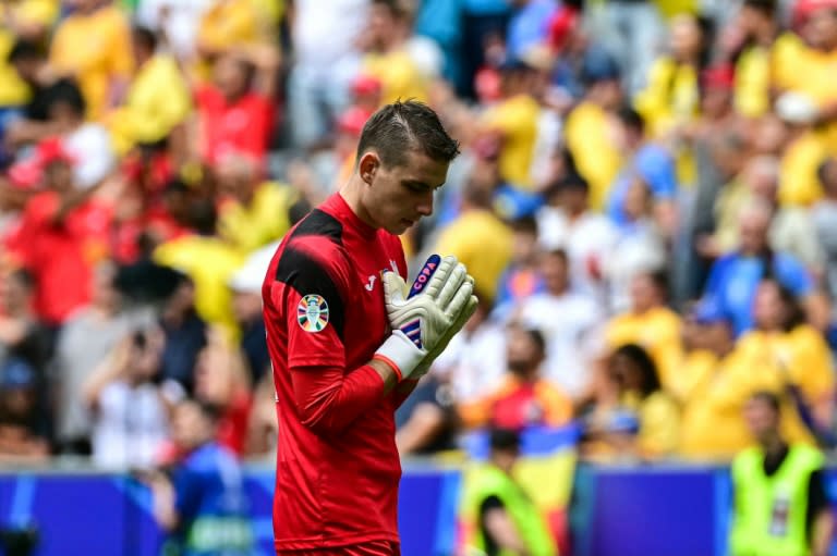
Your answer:
[[[407,275],[401,242],[332,195],[280,245],[263,287],[279,442],[280,551],[398,541],[395,410],[366,363],[389,334],[380,273]]]

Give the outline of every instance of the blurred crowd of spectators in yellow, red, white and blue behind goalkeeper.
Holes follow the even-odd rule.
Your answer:
[[[267,262],[399,98],[462,147],[411,268],[481,300],[403,455],[728,460],[765,390],[837,446],[835,71],[835,0],[4,1],[0,462],[156,466],[184,398],[270,458]]]

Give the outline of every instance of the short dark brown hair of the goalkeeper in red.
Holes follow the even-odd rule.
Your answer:
[[[410,150],[424,152],[438,162],[450,162],[459,155],[459,143],[448,135],[427,104],[399,100],[375,112],[363,126],[357,160],[369,150],[377,152],[386,166],[405,165]]]

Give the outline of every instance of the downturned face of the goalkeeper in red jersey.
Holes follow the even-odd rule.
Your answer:
[[[392,166],[383,164],[374,152],[364,155],[360,171],[368,187],[362,202],[369,220],[400,235],[433,214],[433,194],[445,184],[448,165],[418,151],[409,151],[404,164]]]

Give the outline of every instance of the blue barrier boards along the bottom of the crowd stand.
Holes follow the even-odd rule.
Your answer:
[[[247,466],[245,475],[256,555],[268,556],[272,469]],[[403,556],[452,553],[464,477],[460,466],[404,462],[400,515],[410,519],[401,523]],[[837,472],[826,477],[837,503]],[[568,516],[577,556],[725,555],[731,493],[725,468],[573,465],[567,473],[542,475],[539,490],[562,490],[555,483],[565,479],[568,495],[573,485]],[[157,556],[162,540],[149,492],[129,474],[0,472],[0,529],[35,531],[33,556]]]

